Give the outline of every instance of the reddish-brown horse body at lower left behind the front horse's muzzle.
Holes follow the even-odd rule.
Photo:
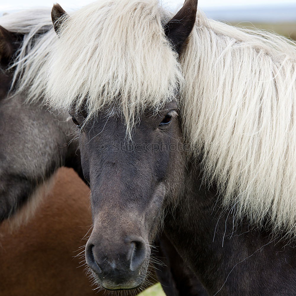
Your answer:
[[[82,259],[74,258],[90,225],[88,187],[72,169],[59,169],[27,223],[0,226],[0,295],[102,295],[79,267]]]

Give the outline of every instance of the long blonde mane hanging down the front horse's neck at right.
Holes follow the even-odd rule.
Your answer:
[[[296,233],[296,43],[199,15],[182,103],[207,181],[237,215]]]

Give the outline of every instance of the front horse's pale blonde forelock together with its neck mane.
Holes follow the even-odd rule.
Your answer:
[[[171,16],[156,0],[95,2],[67,17],[58,37],[42,37],[47,48],[33,47],[23,69],[37,77],[47,69],[49,105],[91,114],[119,106],[127,124],[179,94],[192,152],[224,204],[296,234],[295,42],[198,12],[178,59],[163,31]],[[31,81],[34,101],[44,87]]]

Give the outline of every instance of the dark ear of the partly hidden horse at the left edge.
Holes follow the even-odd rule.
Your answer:
[[[0,61],[8,64],[15,53],[16,36],[0,26]]]

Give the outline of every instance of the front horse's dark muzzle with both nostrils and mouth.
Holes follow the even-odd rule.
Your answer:
[[[147,265],[147,247],[144,239],[129,236],[107,246],[90,237],[86,244],[86,263],[94,272],[97,281],[105,289],[135,289],[144,282]]]

